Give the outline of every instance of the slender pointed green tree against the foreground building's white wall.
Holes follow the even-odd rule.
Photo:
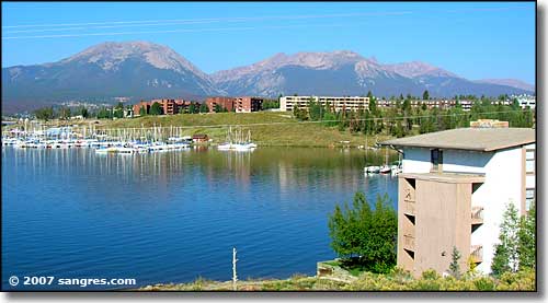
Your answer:
[[[494,246],[494,256],[491,264],[491,271],[494,276],[501,276],[504,272],[516,272],[518,265],[518,245],[520,245],[520,217],[515,206],[510,202],[504,211],[501,230],[499,234],[499,244]]]

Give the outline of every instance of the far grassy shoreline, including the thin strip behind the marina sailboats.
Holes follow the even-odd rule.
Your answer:
[[[21,127],[22,125],[16,125]],[[2,131],[14,125],[2,126]],[[142,116],[114,120],[52,120],[44,124],[46,128],[60,126],[78,126],[95,130],[128,130],[162,127],[179,128],[180,136],[207,135],[213,143],[226,141],[229,126],[238,126],[244,131],[250,130],[251,140],[262,147],[298,147],[298,148],[351,148],[374,147],[376,142],[391,139],[391,136],[366,136],[362,132],[339,130],[333,126],[319,123],[306,124],[296,120],[288,113],[255,112],[255,113],[214,113],[214,114],[178,114],[169,116]],[[27,125],[28,127],[28,125]]]

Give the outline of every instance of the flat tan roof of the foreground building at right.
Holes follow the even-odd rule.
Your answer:
[[[495,151],[535,142],[533,128],[457,128],[392,139],[380,145]]]

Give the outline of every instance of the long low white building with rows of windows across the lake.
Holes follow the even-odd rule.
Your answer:
[[[335,112],[367,109],[369,98],[366,96],[283,96],[279,98],[279,110],[290,112],[295,106],[300,109],[308,108],[310,101],[329,104]]]

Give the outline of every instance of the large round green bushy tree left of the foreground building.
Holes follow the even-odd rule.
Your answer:
[[[388,196],[377,197],[372,209],[363,193],[356,193],[352,208],[335,206],[329,217],[331,247],[341,257],[357,261],[366,270],[388,272],[396,265],[397,214]]]

